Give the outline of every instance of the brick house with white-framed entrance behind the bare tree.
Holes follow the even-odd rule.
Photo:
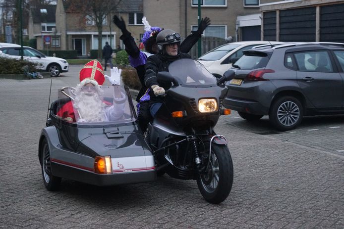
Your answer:
[[[56,29],[60,39],[61,50],[77,50],[79,56],[86,56],[91,49],[98,49],[98,30],[92,18],[82,18],[82,14],[70,10],[66,1],[57,0]],[[142,21],[138,17],[142,15],[142,0],[122,1],[110,15],[103,21],[102,46],[109,42],[113,48],[123,46],[119,37],[120,30],[112,22],[113,15],[122,16],[127,22],[127,29],[139,42],[140,34],[143,34]],[[140,24],[141,22],[141,24]]]

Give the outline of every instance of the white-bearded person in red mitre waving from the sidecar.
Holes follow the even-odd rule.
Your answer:
[[[80,71],[80,83],[75,89],[73,101],[65,103],[57,116],[69,122],[106,122],[123,117],[126,97],[114,87],[113,105],[102,99],[101,86],[108,79],[111,85],[120,85],[121,69],[110,69],[111,77],[104,75],[102,64],[92,60]]]

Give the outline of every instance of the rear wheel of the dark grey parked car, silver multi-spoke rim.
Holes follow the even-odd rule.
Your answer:
[[[302,120],[303,107],[301,102],[291,96],[277,99],[271,106],[270,123],[280,131],[294,129]]]

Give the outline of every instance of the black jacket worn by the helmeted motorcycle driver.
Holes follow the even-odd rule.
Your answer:
[[[161,85],[158,83],[157,74],[158,72],[162,71],[169,71],[169,65],[178,59],[182,58],[191,58],[191,56],[187,53],[178,53],[176,56],[165,56],[161,52],[158,54],[152,55],[148,57],[146,62],[146,68],[145,68],[145,85],[147,88],[151,89],[153,85],[158,85],[160,87],[163,87],[165,90],[169,88],[170,85]],[[153,90],[149,92],[149,95],[151,97],[150,101],[151,103],[154,102],[162,102],[161,97],[155,96],[153,93]]]

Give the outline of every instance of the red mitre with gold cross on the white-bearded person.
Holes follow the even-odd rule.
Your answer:
[[[91,60],[80,70],[80,85],[92,83],[96,86],[104,84],[104,70],[98,60]]]

